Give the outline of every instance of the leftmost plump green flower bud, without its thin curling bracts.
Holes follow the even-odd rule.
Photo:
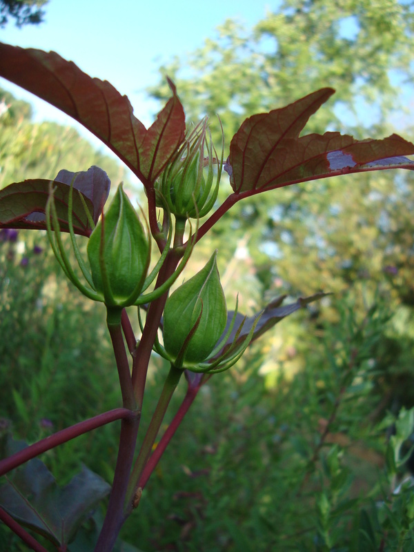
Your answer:
[[[93,284],[107,306],[135,302],[150,263],[150,242],[122,186],[90,235],[88,258]]]

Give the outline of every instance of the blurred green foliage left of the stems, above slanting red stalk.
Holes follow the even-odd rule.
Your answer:
[[[117,397],[112,378],[102,388],[106,379],[94,375],[97,365],[110,369],[110,345],[100,328],[104,311],[69,287],[46,235],[20,232],[15,242],[0,242],[0,256],[0,365],[7,382],[0,412],[32,441],[50,424],[61,429],[92,415],[106,393]],[[79,333],[85,320],[89,329]]]

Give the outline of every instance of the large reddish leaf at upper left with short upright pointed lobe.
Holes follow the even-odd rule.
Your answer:
[[[146,130],[126,96],[108,81],[92,79],[56,52],[0,43],[0,76],[83,124],[146,186],[155,181],[184,139],[184,110],[172,84],[172,98]]]

